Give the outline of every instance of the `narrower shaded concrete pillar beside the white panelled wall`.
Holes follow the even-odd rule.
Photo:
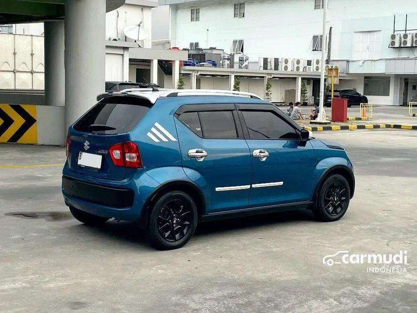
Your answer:
[[[45,22],[45,104],[65,105],[64,21]]]

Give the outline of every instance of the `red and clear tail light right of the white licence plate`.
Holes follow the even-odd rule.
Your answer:
[[[114,165],[123,167],[142,168],[142,158],[139,146],[132,142],[115,144],[109,149]]]

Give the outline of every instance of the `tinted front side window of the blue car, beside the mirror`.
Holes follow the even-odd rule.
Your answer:
[[[298,139],[296,130],[271,111],[242,111],[250,139]]]

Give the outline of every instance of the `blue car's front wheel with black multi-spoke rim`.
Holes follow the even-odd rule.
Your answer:
[[[321,222],[335,222],[345,215],[351,199],[348,181],[332,174],[321,184],[313,214]]]

